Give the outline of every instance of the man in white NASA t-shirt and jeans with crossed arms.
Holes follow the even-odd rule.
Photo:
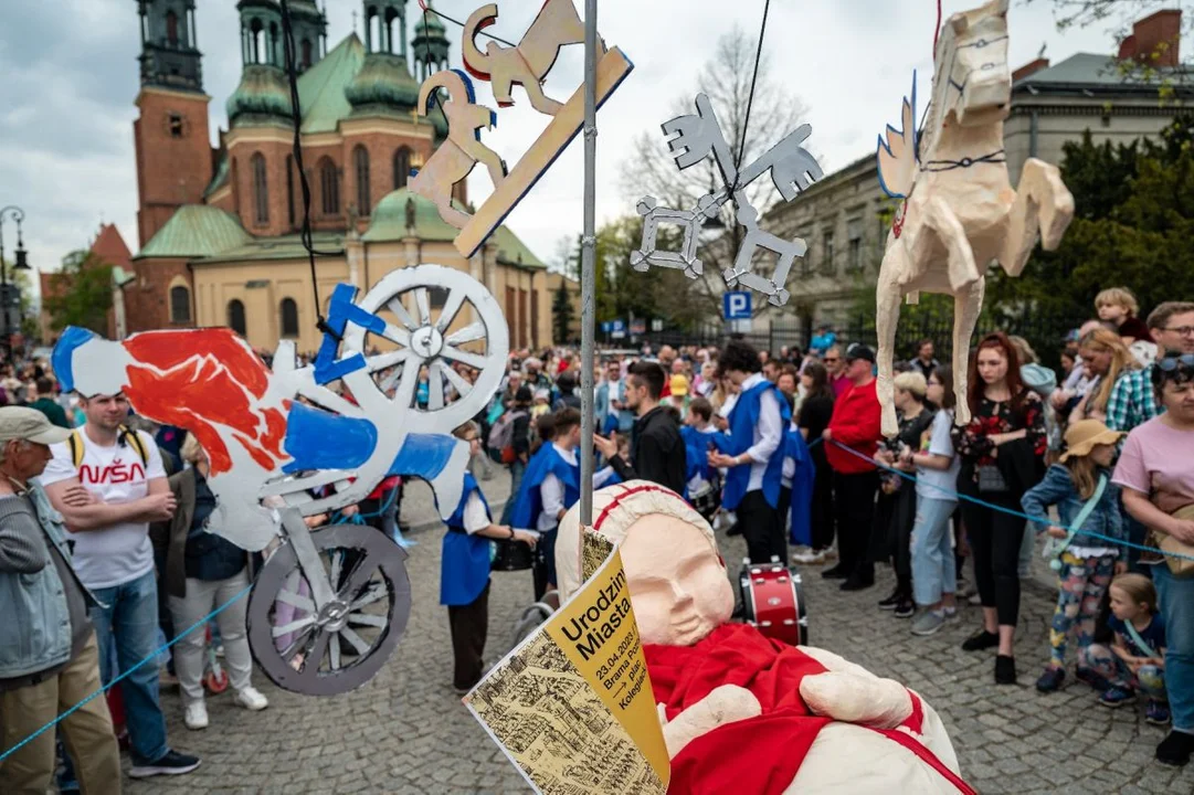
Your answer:
[[[174,514],[174,497],[166,482],[161,454],[152,437],[125,430],[129,414],[124,395],[80,398],[87,418],[73,442],[50,448],[54,460],[42,485],[66,518],[74,546],[79,579],[100,605],[91,620],[99,640],[100,678],[112,680],[112,643],[119,672],[133,668],[158,649],[158,585],[154,577],[149,523]],[[135,436],[134,436],[135,435]],[[121,686],[133,744],[134,778],[178,775],[199,760],[171,751],[166,719],[158,698],[158,666],[142,665]]]

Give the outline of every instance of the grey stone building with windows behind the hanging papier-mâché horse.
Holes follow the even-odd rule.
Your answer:
[[[1135,23],[1118,56],[1076,53],[1051,64],[1041,57],[1011,74],[1011,107],[1004,147],[1013,185],[1024,160],[1060,165],[1063,147],[1089,130],[1100,143],[1131,143],[1153,136],[1194,99],[1194,73],[1180,60],[1181,12],[1158,11]],[[1144,75],[1146,63],[1155,74]],[[1173,91],[1163,101],[1162,86]],[[922,92],[923,95],[924,92]],[[898,98],[892,98],[892,112]],[[848,327],[874,313],[879,276],[896,199],[879,185],[874,152],[826,175],[789,204],[764,216],[781,238],[804,238],[808,251],[789,276],[792,298],[756,319],[789,337],[811,338],[823,322]]]

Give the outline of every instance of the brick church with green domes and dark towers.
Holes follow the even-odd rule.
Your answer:
[[[277,0],[240,0],[242,73],[227,100],[229,129],[213,148],[195,43],[195,0],[139,0],[140,117],[134,123],[140,251],[124,288],[130,332],[227,325],[254,347],[294,339],[314,351],[318,295],[336,284],[362,294],[396,267],[436,263],[469,272],[501,303],[512,345],[550,343],[543,263],[501,227],[466,259],[456,230],[406,190],[447,135],[438,112],[418,116],[419,82],[445,68],[448,39],[433,13],[417,13],[407,41],[407,0],[364,0],[364,41],[327,44],[314,0],[291,0],[302,118],[303,172]],[[303,183],[310,195],[318,284],[300,232]],[[468,204],[466,186],[454,198]]]

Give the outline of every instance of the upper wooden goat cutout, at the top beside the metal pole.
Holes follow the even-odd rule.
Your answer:
[[[535,21],[518,42],[518,47],[486,44],[485,53],[476,45],[476,35],[498,18],[498,4],[490,2],[474,11],[464,23],[464,68],[478,80],[493,84],[493,97],[499,107],[515,104],[511,90],[518,84],[527,92],[531,107],[540,113],[555,116],[561,105],[543,93],[543,80],[555,66],[560,48],[585,41],[585,25],[580,21],[572,0],[546,0]],[[602,47],[602,53],[604,53]]]

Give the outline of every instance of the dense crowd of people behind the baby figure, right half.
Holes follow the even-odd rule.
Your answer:
[[[1194,442],[1194,303],[1138,313],[1130,290],[1101,292],[1096,316],[1059,340],[1059,370],[1024,339],[987,334],[972,350],[962,395],[923,340],[897,368],[900,423],[891,439],[880,432],[875,351],[829,328],[807,352],[773,356],[731,340],[607,353],[593,405],[598,466],[608,466],[595,485],[641,477],[666,486],[715,526],[741,534],[752,562],[790,553],[799,566],[824,567],[843,591],[873,587],[875,566],[890,563],[896,587],[876,606],[909,620],[916,636],[974,604],[981,620],[962,648],[996,652],[996,684],[1017,682],[1021,584],[1042,549],[1058,600],[1036,689],[1063,686],[1073,643],[1075,678],[1106,707],[1141,698],[1149,723],[1171,725],[1157,758],[1186,764],[1194,750],[1194,460],[1181,445]],[[571,352],[515,353],[512,389],[487,415],[493,427],[521,417],[528,378],[547,394],[537,425],[512,433],[521,446],[509,464],[510,518],[541,534],[542,593],[554,583],[552,534],[579,493],[579,469],[574,436],[548,444],[536,427],[579,421],[579,362]],[[970,414],[961,425],[959,402]],[[550,463],[536,467],[536,458]],[[550,501],[538,493],[544,466],[555,473]],[[524,469],[536,476],[522,477]]]

